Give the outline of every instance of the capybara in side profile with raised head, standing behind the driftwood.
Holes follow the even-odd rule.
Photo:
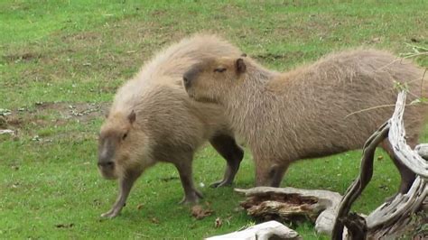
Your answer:
[[[423,69],[386,51],[352,50],[285,73],[250,58],[212,58],[192,66],[183,85],[197,101],[224,107],[253,153],[256,185],[277,187],[291,162],[362,148],[394,112],[395,81],[425,95],[422,78]],[[406,107],[407,143],[413,147],[426,114],[426,106]],[[396,161],[388,143],[382,147],[406,192],[413,172]]]

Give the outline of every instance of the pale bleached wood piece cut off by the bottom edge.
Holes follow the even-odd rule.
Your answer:
[[[276,221],[269,221],[256,226],[250,226],[245,230],[233,232],[227,235],[216,235],[206,238],[207,240],[268,240],[275,239],[302,239],[302,237],[293,229],[290,229]]]

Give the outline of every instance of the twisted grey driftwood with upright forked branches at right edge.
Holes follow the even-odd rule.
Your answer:
[[[426,208],[428,196],[428,146],[418,145],[414,150],[405,143],[403,115],[405,92],[398,95],[394,115],[382,125],[365,144],[358,179],[347,190],[340,202],[340,208],[333,227],[332,239],[342,239],[344,227],[350,239],[379,239],[400,236],[411,221],[411,217]],[[391,202],[386,202],[366,219],[349,214],[353,202],[366,188],[373,174],[373,158],[378,143],[388,137],[398,160],[417,175],[416,180],[405,194],[397,194]]]

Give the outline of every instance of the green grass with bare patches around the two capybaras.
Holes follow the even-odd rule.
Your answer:
[[[337,2],[2,1],[0,108],[12,110],[6,119],[18,135],[0,135],[0,238],[198,239],[253,222],[235,210],[243,198],[232,188],[200,188],[202,203],[215,213],[192,218],[188,207],[177,205],[181,184],[168,164],[144,173],[119,217],[100,219],[116,198],[116,182],[102,180],[96,169],[103,111],[74,114],[89,103],[104,109],[144,60],[192,32],[217,32],[278,70],[348,47],[399,54],[413,51],[408,44],[428,46],[426,1]],[[428,65],[427,58],[416,61]],[[238,188],[254,182],[246,153]],[[384,152],[378,155],[384,159],[376,162],[358,212],[376,208],[398,185],[394,165]],[[283,186],[343,193],[358,174],[359,158],[356,151],[297,162]],[[208,186],[224,164],[211,147],[200,150],[195,181]],[[224,219],[220,228],[216,217]],[[305,239],[326,238],[309,224],[293,227]]]

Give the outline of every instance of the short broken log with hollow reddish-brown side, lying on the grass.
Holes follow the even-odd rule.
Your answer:
[[[246,194],[241,206],[248,215],[264,220],[311,219],[318,233],[331,234],[341,196],[328,190],[256,187],[235,189]]]

